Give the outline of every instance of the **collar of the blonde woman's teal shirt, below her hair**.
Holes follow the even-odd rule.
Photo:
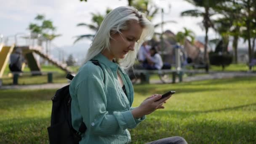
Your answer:
[[[93,60],[98,60],[100,63],[109,67],[112,71],[117,72],[118,64],[116,64],[112,61],[109,61],[109,59],[107,59],[107,57],[104,56],[102,53],[99,53],[96,56],[94,56]]]

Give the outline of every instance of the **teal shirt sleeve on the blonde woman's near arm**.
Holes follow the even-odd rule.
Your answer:
[[[83,122],[93,134],[115,135],[127,128],[136,127],[139,122],[133,118],[131,110],[109,114],[106,110],[103,78],[97,73],[77,85],[76,95]]]

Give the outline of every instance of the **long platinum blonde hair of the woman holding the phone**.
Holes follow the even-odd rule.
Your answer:
[[[101,53],[105,48],[109,50],[109,40],[112,33],[119,32],[128,28],[129,21],[138,21],[143,31],[138,43],[134,46],[134,51],[129,51],[124,59],[119,59],[118,63],[123,68],[129,68],[133,66],[136,61],[136,56],[141,47],[141,44],[145,40],[149,40],[154,34],[153,24],[146,18],[144,13],[139,12],[136,8],[130,6],[121,6],[115,8],[102,21],[99,31],[96,33],[91,43],[91,47],[88,49],[85,63],[90,61],[94,56]]]

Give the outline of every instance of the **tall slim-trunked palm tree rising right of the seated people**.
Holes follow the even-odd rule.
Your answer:
[[[220,3],[221,0],[186,0],[187,2],[198,6],[203,7],[204,11],[193,9],[181,12],[181,16],[194,16],[194,17],[203,17],[203,27],[205,29],[205,48],[204,48],[204,60],[206,64],[209,64],[207,59],[207,45],[208,45],[208,30],[210,27],[213,27],[213,22],[211,21],[211,16],[215,14],[212,7],[217,3]]]

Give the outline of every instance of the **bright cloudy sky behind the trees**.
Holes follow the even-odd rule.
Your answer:
[[[176,33],[182,31],[183,27],[191,29],[197,37],[204,37],[205,32],[198,23],[203,18],[181,17],[182,11],[195,9],[195,6],[184,0],[153,0],[153,2],[164,10],[164,20],[174,20],[176,24],[165,24],[164,30],[171,30]],[[55,34],[61,34],[53,40],[53,44],[59,48],[85,47],[87,49],[91,43],[90,40],[83,40],[73,44],[75,36],[83,34],[93,34],[93,31],[87,27],[77,27],[78,23],[91,23],[91,13],[104,14],[107,8],[117,8],[128,5],[127,0],[0,0],[0,34],[4,37],[13,39],[16,34],[29,34],[29,23],[35,23],[37,14],[44,14],[46,19],[53,21],[57,28]],[[168,5],[171,5],[169,8]],[[157,13],[153,24],[160,23],[161,13]],[[161,32],[160,27],[155,29]],[[209,39],[217,38],[218,35],[210,29]],[[19,39],[20,40],[20,39]],[[18,42],[19,42],[18,40]],[[243,47],[243,45],[242,45]],[[77,52],[79,53],[79,52]]]

